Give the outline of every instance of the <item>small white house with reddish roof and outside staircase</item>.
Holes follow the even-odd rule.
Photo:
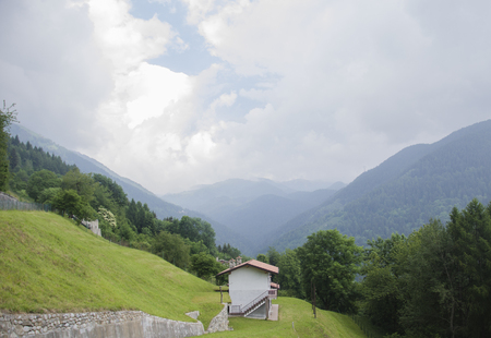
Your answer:
[[[272,287],[271,276],[278,273],[279,269],[276,266],[251,259],[238,265],[231,264],[230,268],[216,275],[228,274],[228,292],[231,299],[228,314],[259,319],[268,318],[272,309],[271,300],[276,299],[279,288],[275,283]]]

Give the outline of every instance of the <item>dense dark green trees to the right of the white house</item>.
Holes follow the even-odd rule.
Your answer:
[[[490,337],[491,203],[472,198],[446,218],[364,248],[337,229],[319,230],[258,259],[278,266],[280,295],[356,313],[374,325],[369,337]]]

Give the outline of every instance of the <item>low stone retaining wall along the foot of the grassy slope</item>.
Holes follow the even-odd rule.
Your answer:
[[[224,318],[225,310],[225,318]],[[142,311],[57,314],[0,314],[0,338],[181,338],[228,329],[227,307],[203,324],[152,316]],[[199,312],[190,313],[197,318]],[[226,323],[224,322],[226,321]]]

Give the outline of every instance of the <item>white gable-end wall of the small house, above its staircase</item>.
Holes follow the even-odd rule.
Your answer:
[[[228,276],[232,305],[247,305],[261,293],[270,290],[270,273],[252,266],[232,270]]]

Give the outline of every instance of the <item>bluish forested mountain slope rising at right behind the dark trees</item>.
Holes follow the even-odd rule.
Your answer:
[[[491,200],[490,168],[491,121],[484,121],[434,144],[403,149],[288,221],[268,245],[296,248],[308,234],[335,228],[363,244],[379,236],[409,233],[430,218],[445,221],[454,206],[462,208],[472,197]]]

